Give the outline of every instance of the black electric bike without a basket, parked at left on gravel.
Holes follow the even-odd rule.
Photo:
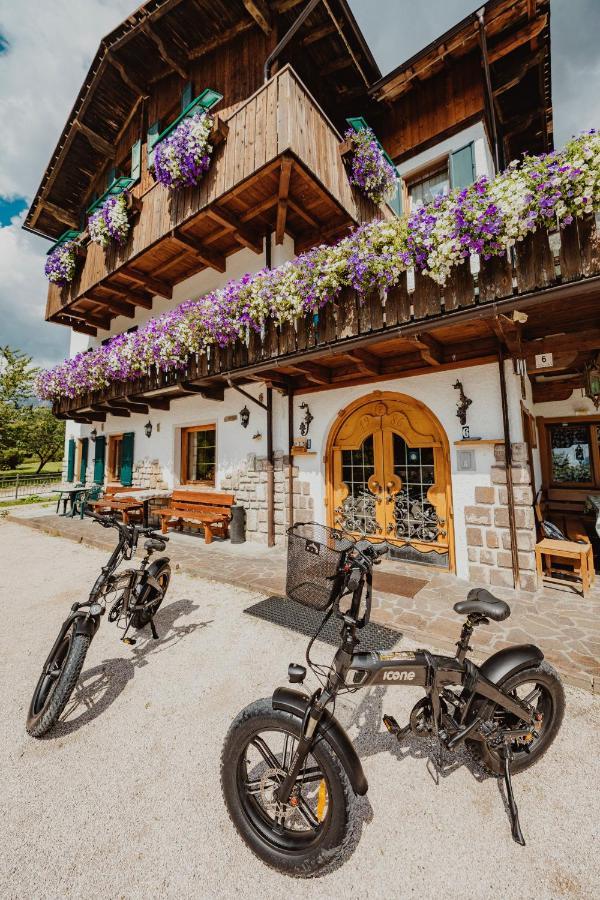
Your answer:
[[[130,628],[139,630],[146,625],[150,625],[153,638],[158,639],[153,617],[169,587],[171,568],[168,557],[150,563],[150,556],[155,551],[165,550],[168,537],[155,533],[152,528],[124,525],[114,516],[90,512],[86,515],[104,528],[116,528],[119,540],[102,567],[89,598],[71,607],[44,663],[27,715],[26,727],[32,737],[46,734],[58,721],[77,684],[88,648],[107,607],[108,621],[116,622],[123,630],[121,640],[125,644],[136,643],[136,639],[128,635]],[[116,572],[123,560],[132,559],[142,536],[147,540],[140,567]]]

